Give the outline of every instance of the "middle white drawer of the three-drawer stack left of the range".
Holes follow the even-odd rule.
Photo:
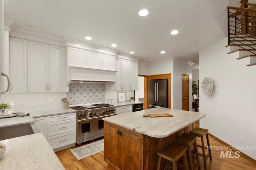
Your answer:
[[[47,137],[76,130],[76,119],[47,124]]]

